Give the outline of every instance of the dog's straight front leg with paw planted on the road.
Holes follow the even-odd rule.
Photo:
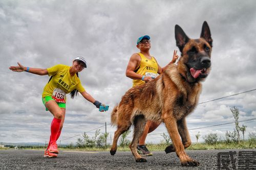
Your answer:
[[[186,153],[184,146],[180,140],[180,135],[177,126],[177,120],[172,115],[168,115],[168,113],[164,114],[163,122],[167,128],[167,131],[170,135],[170,138],[173,141],[174,148],[177,156],[180,158],[182,166],[198,166],[199,162],[191,159]]]

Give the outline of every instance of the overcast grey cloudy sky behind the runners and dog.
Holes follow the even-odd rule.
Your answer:
[[[83,87],[93,98],[110,106],[99,112],[81,95],[67,101],[61,143],[76,143],[83,132],[110,133],[110,115],[121,96],[132,87],[125,69],[138,53],[140,36],[151,37],[151,55],[160,66],[178,50],[174,35],[179,25],[189,38],[199,38],[207,21],[213,41],[212,68],[199,103],[256,88],[255,1],[0,1],[0,142],[48,142],[52,114],[41,101],[48,76],[12,72],[9,66],[49,68],[72,65],[77,56],[87,61],[79,72]],[[178,52],[178,55],[180,53]],[[187,116],[191,140],[195,135],[217,133],[225,137],[234,125],[201,128],[234,122],[230,108],[239,108],[246,125],[245,137],[256,132],[256,90],[199,104]],[[250,121],[248,121],[250,120]],[[100,128],[99,128],[100,127]],[[200,128],[200,129],[197,129]],[[148,134],[146,143],[158,143],[167,134],[164,124]],[[132,133],[129,135],[131,140]],[[59,142],[59,141],[58,141]]]

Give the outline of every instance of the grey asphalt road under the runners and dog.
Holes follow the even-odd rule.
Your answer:
[[[117,151],[115,156],[111,156],[109,152],[67,152],[60,150],[57,158],[45,158],[44,151],[0,150],[0,169],[219,169],[218,153],[229,153],[230,151],[236,152],[232,156],[235,162],[233,166],[236,166],[236,169],[239,167],[238,158],[239,153],[242,153],[241,151],[247,151],[248,154],[256,153],[256,149],[186,151],[191,158],[199,161],[200,165],[183,167],[175,153],[153,152],[153,156],[145,157],[147,162],[137,163],[130,151]],[[230,155],[224,154],[221,158],[225,158],[226,163],[221,163],[220,167],[225,165],[229,169],[234,169],[232,161],[229,161]],[[256,169],[256,155],[247,158],[247,160],[251,158],[249,167]]]

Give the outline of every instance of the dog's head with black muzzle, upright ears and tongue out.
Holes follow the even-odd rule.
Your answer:
[[[176,45],[181,52],[178,62],[180,74],[189,83],[203,81],[210,71],[210,54],[212,39],[210,29],[206,21],[203,23],[199,39],[190,39],[180,26],[175,26]]]

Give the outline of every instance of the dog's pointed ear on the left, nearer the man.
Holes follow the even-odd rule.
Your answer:
[[[185,34],[185,32],[182,30],[182,28],[178,25],[175,25],[175,39],[176,39],[176,45],[179,47],[180,52],[182,52],[183,47],[188,42],[189,38]]]

